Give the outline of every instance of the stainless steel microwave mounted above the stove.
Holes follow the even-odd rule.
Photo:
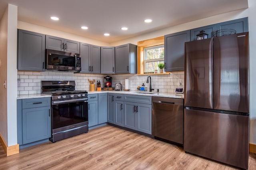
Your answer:
[[[81,57],[77,53],[46,49],[46,70],[81,71]]]

